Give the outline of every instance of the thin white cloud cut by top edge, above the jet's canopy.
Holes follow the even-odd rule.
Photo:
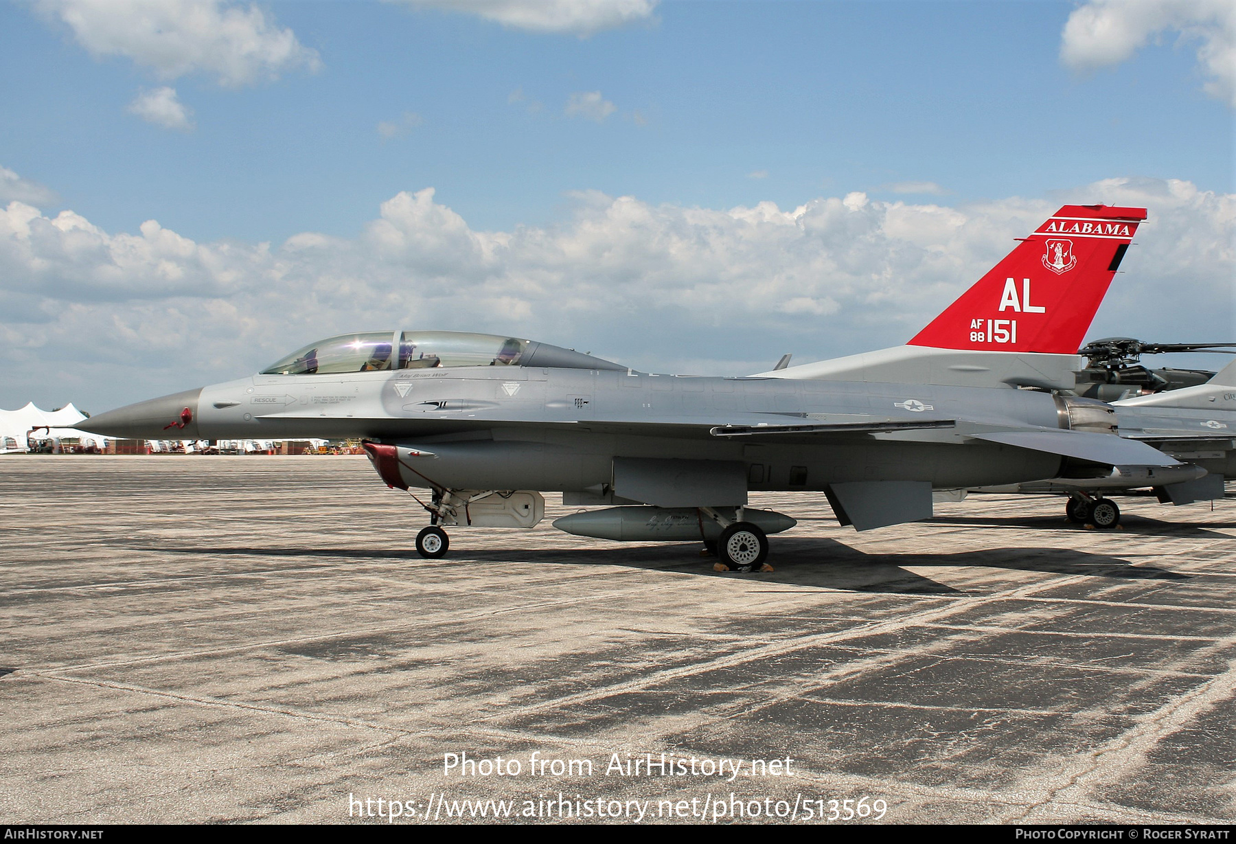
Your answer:
[[[418,9],[459,11],[533,32],[586,37],[653,17],[658,0],[402,0]]]

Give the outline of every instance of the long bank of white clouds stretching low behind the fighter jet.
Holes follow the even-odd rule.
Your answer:
[[[946,208],[861,193],[797,208],[581,192],[552,225],[480,231],[431,188],[355,237],[199,243],[151,220],[0,211],[0,407],[104,409],[252,372],[356,330],[512,334],[655,372],[729,373],[905,342],[1065,201],[1149,208],[1091,336],[1231,331],[1236,195],[1107,179]],[[41,392],[56,384],[54,395]]]

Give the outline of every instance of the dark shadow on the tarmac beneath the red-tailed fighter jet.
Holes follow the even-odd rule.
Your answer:
[[[776,571],[760,575],[714,572],[716,557],[701,555],[697,542],[602,549],[460,549],[436,565],[506,562],[513,565],[604,565],[679,571],[703,577],[744,578],[760,583],[895,594],[963,594],[944,583],[908,571],[913,566],[1007,568],[1056,575],[1122,580],[1184,581],[1187,575],[1151,566],[1133,566],[1120,557],[1059,547],[1007,547],[958,554],[864,554],[832,539],[781,536],[774,540],[770,562]],[[332,547],[145,547],[147,551],[251,557],[325,557],[423,562],[413,550]]]

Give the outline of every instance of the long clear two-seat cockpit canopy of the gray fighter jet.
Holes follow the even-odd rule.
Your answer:
[[[381,369],[456,366],[539,366],[570,369],[627,367],[549,344],[498,334],[462,331],[368,331],[319,340],[273,363],[261,374],[337,374]]]

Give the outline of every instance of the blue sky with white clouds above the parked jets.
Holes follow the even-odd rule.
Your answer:
[[[0,78],[2,408],[394,327],[870,351],[1074,201],[1149,209],[1089,337],[1236,341],[1226,0],[35,0]]]

